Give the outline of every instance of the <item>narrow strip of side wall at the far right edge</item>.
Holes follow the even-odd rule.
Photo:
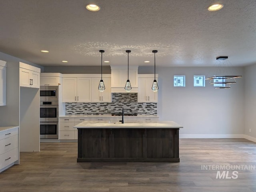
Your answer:
[[[256,138],[256,65],[245,67],[244,76],[245,135]],[[251,129],[251,132],[249,129]]]

